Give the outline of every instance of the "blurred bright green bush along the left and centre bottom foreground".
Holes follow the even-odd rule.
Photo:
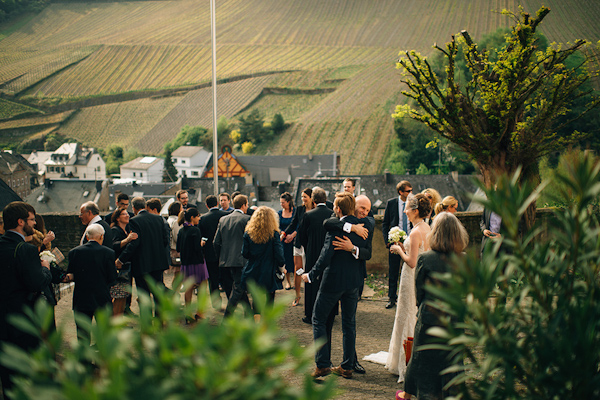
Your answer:
[[[260,323],[241,313],[214,324],[211,318],[192,327],[180,295],[159,295],[160,319],[141,299],[136,319],[100,313],[91,328],[95,347],[71,343],[55,361],[64,331],[47,334],[47,307],[38,304],[16,323],[42,338],[33,354],[5,348],[0,360],[20,371],[17,399],[327,399],[332,382],[315,386],[306,370],[311,352],[293,339],[281,339],[277,320],[285,305],[265,310]],[[207,308],[207,298],[200,299]],[[238,315],[240,314],[240,315]],[[286,381],[305,377],[302,387]]]

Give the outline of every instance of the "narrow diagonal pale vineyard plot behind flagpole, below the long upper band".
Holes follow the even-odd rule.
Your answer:
[[[217,113],[231,118],[252,102],[272,78],[246,79],[217,86]],[[189,92],[164,118],[134,144],[143,153],[158,154],[185,125],[212,128],[212,88]]]

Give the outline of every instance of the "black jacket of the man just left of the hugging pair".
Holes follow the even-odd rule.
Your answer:
[[[321,205],[307,211],[302,217],[298,227],[298,237],[306,254],[305,272],[312,269],[319,258],[319,254],[321,254],[321,249],[325,243],[325,234],[327,233],[323,222],[332,215],[333,211]]]

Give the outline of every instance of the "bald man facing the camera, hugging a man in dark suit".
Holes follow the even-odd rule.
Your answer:
[[[370,213],[371,200],[369,200],[367,196],[360,195],[357,196],[355,199],[354,209],[354,215],[356,216],[356,218],[358,218],[358,224],[350,224],[338,218],[329,218],[324,223],[325,230],[327,231],[327,233],[335,235],[335,238],[332,242],[335,250],[343,250],[350,252],[360,261],[363,284],[360,286],[358,291],[359,300],[360,296],[362,295],[364,279],[367,277],[367,261],[371,259],[371,254],[373,250],[373,231],[375,229],[375,219],[373,218],[373,216],[370,216]],[[347,234],[351,232],[354,232],[363,239],[366,239],[366,246],[355,246],[347,236]],[[331,337],[331,332],[328,332],[328,337]],[[365,368],[358,362],[358,357],[355,357],[353,370],[354,372],[357,372],[359,374],[366,373]]]

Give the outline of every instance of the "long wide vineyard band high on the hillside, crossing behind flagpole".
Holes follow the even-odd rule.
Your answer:
[[[220,46],[220,78],[286,69],[340,67],[392,60],[395,49],[294,46]],[[211,51],[195,46],[110,46],[28,92],[36,97],[76,97],[206,82]]]

